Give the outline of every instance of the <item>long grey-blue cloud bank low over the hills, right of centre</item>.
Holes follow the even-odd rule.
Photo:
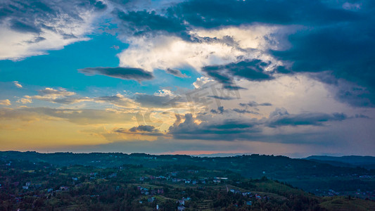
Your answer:
[[[222,109],[224,112],[224,109]],[[236,113],[253,113],[255,112],[248,110],[232,110]],[[226,110],[227,112],[227,110]],[[176,122],[170,127],[169,134],[175,139],[206,139],[206,140],[222,140],[222,141],[267,141],[268,138],[272,140],[286,140],[282,139],[282,136],[293,136],[291,134],[263,134],[263,130],[268,128],[277,127],[324,127],[327,122],[341,122],[348,119],[354,118],[366,118],[364,115],[355,115],[348,117],[344,113],[301,113],[301,114],[289,114],[284,108],[277,108],[270,115],[269,118],[262,119],[231,119],[228,116],[218,115],[220,112],[215,110],[212,112],[216,116],[222,117],[217,119],[213,117],[196,117],[198,120],[203,120],[200,124],[196,123],[196,119],[193,115],[186,114],[184,122],[181,118],[177,119]],[[181,123],[182,122],[182,123]],[[223,136],[225,134],[225,136]]]

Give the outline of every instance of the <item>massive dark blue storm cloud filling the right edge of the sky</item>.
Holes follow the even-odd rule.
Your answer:
[[[368,17],[354,23],[303,30],[289,37],[291,49],[274,51],[273,54],[280,60],[293,63],[291,70],[294,72],[328,71],[336,79],[351,82],[351,87],[340,87],[337,98],[352,106],[374,106],[373,23],[375,19]],[[329,84],[335,82],[326,77],[316,79]]]

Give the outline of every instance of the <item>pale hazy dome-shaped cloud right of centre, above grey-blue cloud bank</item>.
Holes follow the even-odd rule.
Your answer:
[[[239,103],[250,101],[272,103],[272,106],[259,107],[256,111],[260,115],[253,115],[254,117],[267,117],[276,107],[284,107],[289,113],[346,113],[348,115],[362,113],[362,110],[336,101],[335,94],[328,86],[303,74],[279,75],[276,79],[267,82],[239,80],[236,81],[236,85],[246,87],[238,90],[241,98],[220,101],[221,106],[233,109],[239,108]]]

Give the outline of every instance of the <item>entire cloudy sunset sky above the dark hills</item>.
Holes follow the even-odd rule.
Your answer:
[[[375,2],[0,2],[0,151],[375,155]]]

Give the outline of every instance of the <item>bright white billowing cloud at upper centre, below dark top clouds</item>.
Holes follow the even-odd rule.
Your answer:
[[[276,26],[250,25],[191,31],[191,35],[199,41],[186,41],[165,34],[130,37],[126,40],[129,48],[117,56],[121,66],[148,71],[186,66],[199,71],[206,65],[223,65],[253,58],[271,60],[276,65],[280,63],[265,50],[284,48],[272,35],[282,30]]]

